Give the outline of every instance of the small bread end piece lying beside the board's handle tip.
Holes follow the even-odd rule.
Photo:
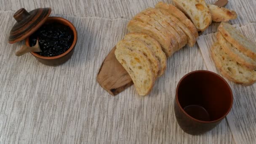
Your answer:
[[[237,18],[237,13],[235,11],[231,11],[227,8],[219,7],[217,5],[207,4],[210,12],[212,21],[221,22],[221,21],[229,21],[231,19]]]

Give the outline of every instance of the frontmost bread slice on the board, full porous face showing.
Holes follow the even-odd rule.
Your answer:
[[[131,76],[139,95],[147,95],[155,84],[155,76],[146,56],[140,51],[119,47],[115,50],[115,57]]]

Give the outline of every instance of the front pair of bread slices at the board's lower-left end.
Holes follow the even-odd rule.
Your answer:
[[[148,94],[166,68],[160,44],[143,33],[130,33],[117,43],[115,56],[131,76],[139,95]]]

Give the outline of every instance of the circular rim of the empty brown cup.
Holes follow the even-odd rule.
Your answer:
[[[226,85],[227,85],[228,88],[229,88],[229,92],[231,93],[231,104],[230,104],[230,107],[229,107],[229,109],[227,110],[227,112],[225,113],[225,115],[223,115],[222,117],[220,117],[220,118],[217,119],[217,120],[212,120],[212,121],[197,120],[196,118],[194,118],[194,117],[190,116],[189,114],[187,114],[187,112],[185,112],[185,110],[181,107],[181,104],[179,103],[179,99],[178,99],[178,88],[179,88],[179,85],[180,85],[181,81],[184,80],[184,78],[186,78],[188,75],[191,75],[192,73],[197,73],[197,72],[208,72],[208,73],[211,73],[211,74],[213,74],[213,75],[216,75],[216,76],[219,77],[224,83],[226,83]],[[214,73],[214,72],[208,71],[208,70],[196,70],[196,71],[192,71],[192,72],[187,73],[186,75],[184,75],[184,76],[181,78],[181,80],[179,80],[179,83],[178,83],[178,85],[177,85],[177,87],[176,87],[175,101],[176,101],[178,107],[181,109],[181,111],[182,111],[185,115],[187,115],[187,117],[191,118],[192,120],[195,120],[195,121],[200,122],[200,123],[215,123],[215,122],[217,122],[217,121],[219,121],[219,120],[222,120],[222,119],[223,119],[224,117],[226,117],[226,116],[228,115],[228,113],[230,112],[230,110],[231,110],[231,108],[232,108],[232,105],[233,105],[233,93],[232,93],[232,90],[231,90],[229,84],[227,83],[227,81],[224,80],[224,78],[221,77],[220,75],[218,75],[218,74],[216,74],[216,73]]]

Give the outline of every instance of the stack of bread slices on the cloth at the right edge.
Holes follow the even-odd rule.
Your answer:
[[[216,67],[227,79],[243,85],[256,82],[256,45],[232,25],[222,22],[211,48]]]

